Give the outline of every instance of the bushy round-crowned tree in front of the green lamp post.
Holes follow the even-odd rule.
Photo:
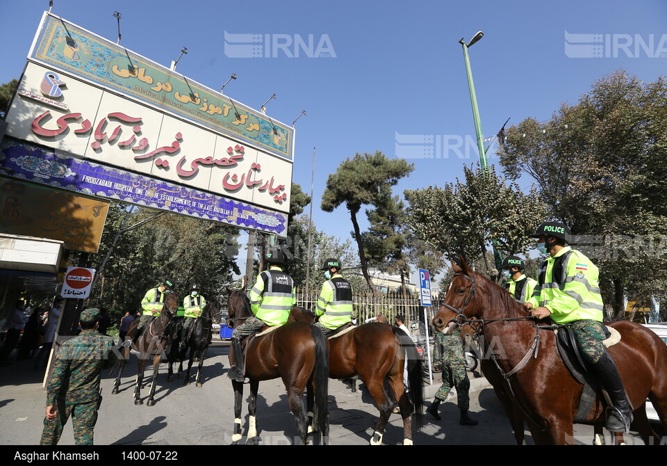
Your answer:
[[[493,166],[464,167],[463,172],[465,182],[456,179],[443,188],[406,190],[408,223],[447,259],[465,257],[469,263],[482,259],[483,272],[497,277],[486,254],[491,241],[502,255],[534,247],[528,235],[543,220],[545,205],[534,190],[522,193],[518,184],[499,177]]]

